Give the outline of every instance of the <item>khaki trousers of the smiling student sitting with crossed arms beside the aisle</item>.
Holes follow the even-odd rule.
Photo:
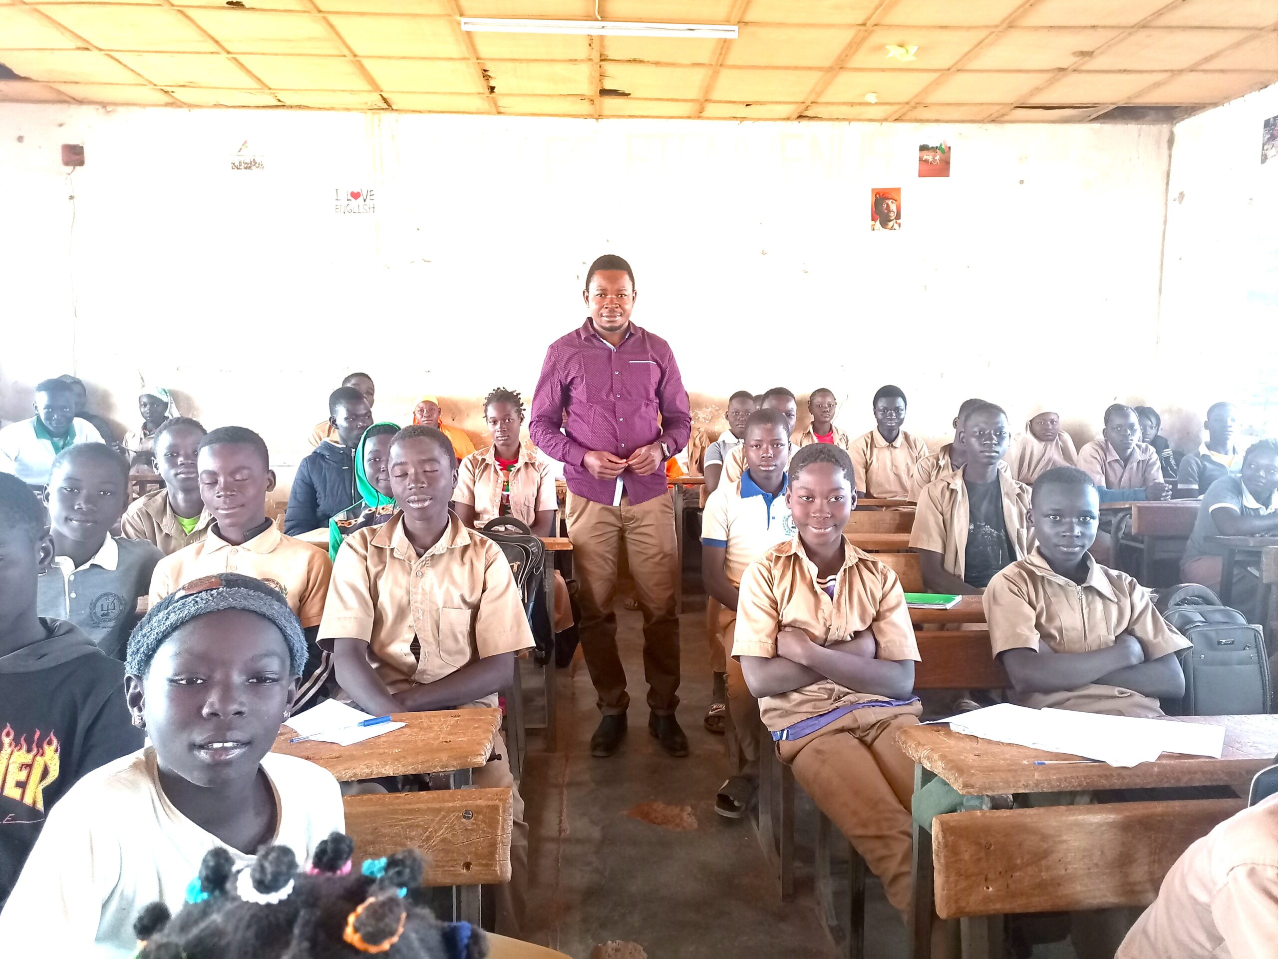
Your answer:
[[[866,706],[803,739],[777,743],[782,762],[883,881],[888,901],[910,923],[910,799],[914,762],[896,733],[918,711]],[[918,710],[918,706],[915,706]]]

